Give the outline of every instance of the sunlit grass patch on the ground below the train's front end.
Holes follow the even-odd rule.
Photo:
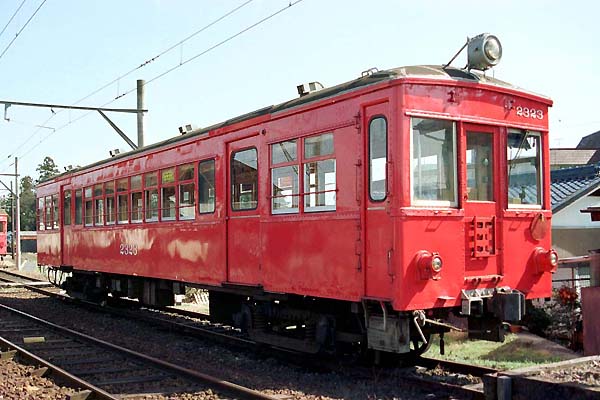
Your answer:
[[[469,340],[463,333],[448,333],[444,340],[444,356],[440,355],[437,338],[425,355],[497,369],[516,369],[563,360],[547,348],[535,346],[531,341],[520,340],[514,334],[507,334],[504,343]]]

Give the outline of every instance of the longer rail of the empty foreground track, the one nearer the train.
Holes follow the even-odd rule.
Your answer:
[[[213,385],[214,387],[217,387],[221,390],[227,391],[227,392],[232,392],[232,393],[237,393],[240,394],[242,396],[244,396],[245,398],[250,398],[250,399],[257,399],[257,400],[280,400],[278,397],[274,397],[274,396],[270,396],[267,395],[265,393],[261,393],[259,391],[250,389],[250,388],[246,388],[244,386],[241,385],[237,385],[235,383],[232,382],[228,382],[226,380],[223,379],[219,379],[217,377],[213,377],[211,375],[207,375],[198,371],[194,371],[188,368],[184,368],[184,367],[180,367],[178,365],[175,364],[171,364],[169,362],[166,362],[164,360],[160,360],[158,358],[155,357],[151,357],[148,356],[146,354],[142,354],[130,349],[127,349],[125,347],[122,346],[117,346],[115,344],[109,343],[107,341],[101,340],[101,339],[97,339],[94,338],[92,336],[86,335],[84,333],[81,332],[77,332],[74,331],[72,329],[69,328],[65,328],[63,326],[54,324],[52,322],[49,321],[45,321],[41,318],[38,318],[36,316],[27,314],[23,311],[14,309],[12,307],[8,307],[6,305],[0,304],[0,309],[4,309],[7,311],[10,311],[12,313],[21,315],[22,317],[25,317],[27,319],[30,319],[32,321],[36,321],[39,324],[51,327],[57,331],[60,332],[64,332],[67,333],[69,335],[72,335],[74,337],[77,337],[78,339],[82,339],[82,340],[86,340],[88,342],[94,343],[96,345],[105,347],[107,349],[111,349],[113,351],[118,351],[120,353],[123,354],[127,354],[128,356],[132,357],[132,358],[136,358],[139,360],[143,360],[147,363],[153,364],[163,370],[171,370],[171,371],[175,371],[185,377],[187,377],[188,379],[194,380],[196,382],[201,382],[203,384],[209,384],[209,385]]]

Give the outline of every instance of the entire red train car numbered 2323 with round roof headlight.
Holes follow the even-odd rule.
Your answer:
[[[41,183],[38,262],[87,298],[205,288],[214,320],[309,352],[416,354],[451,311],[500,340],[550,296],[551,100],[448,66],[298,89]]]

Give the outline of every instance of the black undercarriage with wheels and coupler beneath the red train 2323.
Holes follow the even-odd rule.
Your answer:
[[[149,306],[171,306],[174,295],[185,293],[181,282],[66,268],[51,269],[49,278],[59,283],[56,277],[65,272],[70,276],[62,280],[63,289],[73,297],[97,303],[111,296],[137,298]],[[309,354],[358,356],[375,363],[383,359],[410,362],[429,349],[436,335],[443,353],[444,334],[451,330],[467,330],[472,338],[503,341],[503,321],[520,319],[524,312],[523,296],[516,291],[495,294],[481,302],[469,298],[468,310],[463,304],[462,310],[398,312],[377,300],[358,303],[271,294],[257,288],[198,287],[209,293],[213,323],[237,327],[255,342]],[[452,313],[467,315],[454,318],[452,324],[445,322]],[[454,322],[458,320],[467,323],[461,328]]]

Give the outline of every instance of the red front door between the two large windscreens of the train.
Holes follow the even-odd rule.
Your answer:
[[[465,124],[463,199],[465,210],[465,278],[492,279],[500,275],[498,252],[498,194],[500,178],[496,143],[498,129]],[[465,187],[466,186],[466,187]]]

